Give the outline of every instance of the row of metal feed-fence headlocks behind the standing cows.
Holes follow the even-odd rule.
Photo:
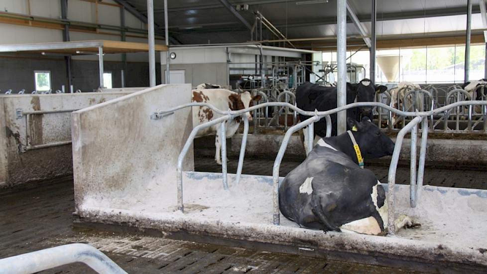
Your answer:
[[[485,94],[485,85],[478,86],[474,91],[467,92],[458,85],[434,86],[427,85],[421,89],[414,89],[410,87],[403,87],[396,91],[400,96],[391,96],[392,89],[389,91],[377,94],[375,102],[385,103],[392,108],[402,111],[419,111],[434,110],[442,106],[459,102],[459,101],[473,101],[476,97],[472,96],[475,93],[481,94],[482,101],[487,100]],[[262,96],[260,103],[280,102],[284,97],[285,103],[295,105],[295,88],[291,89],[250,89],[249,92],[253,94],[265,94]],[[283,94],[283,95],[281,95]],[[288,96],[293,94],[293,96]],[[265,98],[265,99],[264,99]],[[293,122],[288,123],[289,114],[293,117]],[[374,110],[374,123],[382,129],[393,132],[399,132],[402,127],[410,122],[408,117],[403,116],[402,119],[396,120],[393,117],[393,112],[385,111],[381,108]],[[284,125],[279,122],[279,118],[284,115]],[[269,121],[270,118],[270,121]],[[435,133],[458,133],[458,134],[487,134],[487,107],[469,109],[456,108],[443,114],[431,115],[431,122],[429,123],[431,132]],[[294,126],[298,122],[297,113],[288,107],[273,107],[263,110],[254,111],[254,133],[259,133],[261,129],[278,129],[287,130],[289,126]]]

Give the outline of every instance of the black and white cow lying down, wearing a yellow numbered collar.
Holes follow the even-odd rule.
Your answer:
[[[392,155],[394,143],[368,118],[348,119],[350,132],[365,159]],[[359,166],[349,132],[322,138],[304,162],[279,186],[279,209],[299,226],[323,231],[383,235],[387,228],[387,197],[372,171]],[[400,227],[418,227],[405,215]]]

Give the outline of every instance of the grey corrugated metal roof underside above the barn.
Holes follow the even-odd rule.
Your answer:
[[[126,0],[146,13],[146,0]],[[306,0],[300,0],[306,1]],[[240,11],[252,25],[253,11],[260,11],[289,38],[335,35],[336,2],[296,4],[296,0],[229,0],[234,6],[248,3]],[[370,28],[370,0],[348,0],[367,29]],[[478,2],[474,1],[472,28],[482,28]],[[183,43],[242,42],[249,31],[219,0],[168,0],[171,35]],[[155,22],[164,25],[163,1],[154,1]],[[409,34],[465,29],[467,0],[377,0],[377,34]],[[442,15],[442,16],[435,16]],[[359,34],[348,24],[348,34]],[[265,34],[264,34],[265,36]],[[272,39],[272,37],[266,37]]]

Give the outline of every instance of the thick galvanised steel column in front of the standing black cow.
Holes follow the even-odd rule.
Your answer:
[[[347,0],[337,1],[337,107],[347,105]],[[337,134],[347,131],[347,111],[338,114]]]

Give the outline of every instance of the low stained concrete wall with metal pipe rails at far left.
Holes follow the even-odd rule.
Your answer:
[[[17,119],[17,109],[23,112],[81,109],[125,94],[128,93],[0,96],[0,186],[72,174],[69,144],[19,152],[19,145],[26,145],[27,136],[32,145],[69,141],[71,113],[33,115],[27,133],[26,117]]]

